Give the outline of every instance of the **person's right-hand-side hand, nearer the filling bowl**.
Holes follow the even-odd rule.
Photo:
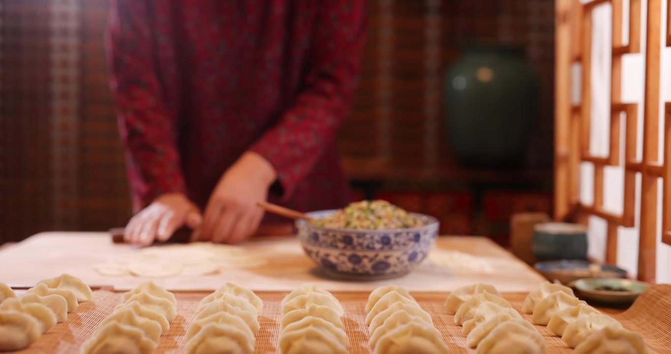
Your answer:
[[[239,243],[258,229],[263,211],[256,203],[265,201],[276,172],[262,156],[246,152],[219,180],[212,192],[201,237],[216,243]]]

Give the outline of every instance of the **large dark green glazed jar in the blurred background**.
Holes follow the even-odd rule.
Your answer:
[[[448,140],[468,167],[519,167],[537,119],[539,84],[521,48],[465,48],[446,72]]]

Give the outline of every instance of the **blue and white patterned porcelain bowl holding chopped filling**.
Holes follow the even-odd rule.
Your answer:
[[[335,211],[315,211],[321,219]],[[317,265],[346,276],[392,277],[410,272],[429,254],[440,223],[428,215],[413,213],[424,225],[409,229],[359,230],[321,227],[296,222],[305,253]]]

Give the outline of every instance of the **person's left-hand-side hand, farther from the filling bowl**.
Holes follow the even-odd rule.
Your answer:
[[[155,239],[170,239],[174,231],[184,225],[195,229],[202,219],[198,207],[184,194],[163,194],[130,219],[123,239],[128,243],[148,246]]]

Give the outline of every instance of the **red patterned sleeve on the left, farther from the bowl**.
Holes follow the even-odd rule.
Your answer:
[[[156,196],[185,192],[176,148],[176,115],[168,109],[156,68],[147,0],[111,0],[107,52],[110,87],[137,212]]]

